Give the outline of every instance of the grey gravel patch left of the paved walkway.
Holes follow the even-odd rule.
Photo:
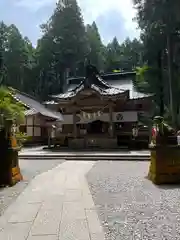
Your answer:
[[[46,172],[63,163],[62,160],[20,160],[21,172],[24,180],[11,188],[0,188],[0,215],[27,187],[28,183],[37,175]]]

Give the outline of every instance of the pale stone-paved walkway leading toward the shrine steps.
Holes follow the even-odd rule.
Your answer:
[[[3,240],[104,240],[85,174],[94,162],[65,162],[37,176],[0,218]]]

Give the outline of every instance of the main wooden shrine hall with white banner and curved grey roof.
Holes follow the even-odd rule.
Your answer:
[[[63,115],[57,137],[70,148],[128,145],[134,124],[142,115],[150,117],[152,109],[151,95],[136,91],[135,77],[129,72],[67,79],[64,93],[44,103]]]

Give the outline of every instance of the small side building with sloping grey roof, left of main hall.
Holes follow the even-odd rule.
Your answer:
[[[47,109],[33,96],[14,89],[13,97],[25,107],[25,119],[19,130],[28,136],[25,144],[47,144],[52,125],[59,126],[63,121],[60,112]]]

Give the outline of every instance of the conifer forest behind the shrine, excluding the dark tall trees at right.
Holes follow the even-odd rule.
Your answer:
[[[63,90],[67,74],[84,75],[85,59],[101,72],[132,71],[141,65],[142,43],[127,38],[120,44],[114,37],[105,46],[96,23],[85,26],[76,0],[57,4],[41,30],[42,37],[33,47],[15,25],[0,23],[2,84],[44,100]]]

